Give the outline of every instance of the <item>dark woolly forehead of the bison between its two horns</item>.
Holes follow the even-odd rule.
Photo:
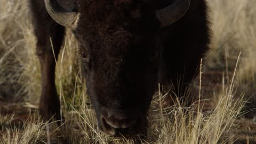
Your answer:
[[[91,1],[81,6],[80,13],[76,32],[81,35],[80,40],[90,43],[90,47],[142,43],[145,35],[153,35],[159,28],[155,10],[149,2]]]

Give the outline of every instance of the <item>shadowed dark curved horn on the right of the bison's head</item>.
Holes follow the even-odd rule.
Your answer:
[[[164,9],[156,11],[162,27],[170,26],[173,22],[181,19],[188,11],[191,0],[176,0]]]

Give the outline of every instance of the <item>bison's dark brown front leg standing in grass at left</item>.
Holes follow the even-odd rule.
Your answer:
[[[47,13],[44,1],[30,1],[37,37],[37,55],[42,73],[42,93],[39,112],[47,121],[54,116],[61,120],[60,100],[55,87],[55,58],[59,54],[65,27],[57,24]],[[50,41],[52,40],[52,43]],[[60,122],[58,122],[60,124]]]

